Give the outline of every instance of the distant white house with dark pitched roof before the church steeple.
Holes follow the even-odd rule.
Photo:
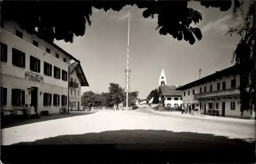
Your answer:
[[[158,88],[159,97],[163,100],[164,106],[177,107],[182,104],[182,92],[176,91],[177,86],[164,86]]]

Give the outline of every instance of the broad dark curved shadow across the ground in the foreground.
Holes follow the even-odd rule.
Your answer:
[[[97,144],[103,145],[99,147]],[[100,158],[94,158],[94,161],[106,160],[106,154],[118,154],[115,157],[112,156],[111,159],[126,156],[121,159],[123,161],[138,161],[137,159],[140,159],[158,162],[165,160],[165,162],[172,161],[173,163],[255,163],[255,142],[250,143],[241,139],[228,139],[225,136],[195,132],[115,130],[99,133],[60,135],[34,142],[17,143],[12,146],[15,151],[22,152],[18,150],[21,145],[48,145],[44,146],[44,148],[39,146],[44,151],[37,150],[37,154],[39,151],[42,154],[49,154],[54,152],[54,150],[56,152],[58,152],[57,150],[64,152],[67,150],[72,154],[69,153],[70,158],[76,152],[75,156],[79,158],[79,155],[86,155],[88,160],[91,156],[100,155]],[[58,156],[56,152],[54,157]],[[4,154],[6,153],[8,151],[4,152]],[[1,152],[2,156],[4,154]],[[127,159],[128,154],[131,156]],[[68,159],[66,157],[66,160]],[[2,161],[4,162],[4,160]]]

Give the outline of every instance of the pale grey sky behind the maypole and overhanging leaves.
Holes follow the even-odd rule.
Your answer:
[[[189,2],[189,7],[202,13],[203,20],[192,24],[201,29],[203,38],[194,45],[178,41],[170,35],[161,36],[155,18],[144,18],[137,6],[126,6],[120,12],[93,9],[92,24],[87,24],[84,36],[74,38],[73,43],[54,43],[80,60],[89,87],[82,93],[108,92],[110,83],[125,88],[127,62],[127,31],[129,8],[131,8],[129,67],[131,89],[139,91],[144,99],[155,88],[162,68],[167,85],[185,85],[201,77],[232,66],[231,60],[240,36],[225,36],[229,26],[241,23],[234,20],[232,8],[220,12],[218,8],[205,8],[198,2]]]

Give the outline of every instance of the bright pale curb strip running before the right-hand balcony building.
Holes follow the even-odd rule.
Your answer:
[[[194,117],[194,118],[200,118],[200,119],[212,119],[212,120],[223,120],[223,121],[236,121],[236,122],[244,122],[244,123],[255,123],[255,120],[247,120],[247,119],[238,119],[238,118],[227,118],[227,117],[209,117],[209,116],[193,116],[193,115],[177,115],[177,114],[166,114],[158,111],[154,111],[149,108],[151,112],[157,113],[157,114],[163,114],[163,115],[169,115],[169,116],[179,116],[179,117]]]

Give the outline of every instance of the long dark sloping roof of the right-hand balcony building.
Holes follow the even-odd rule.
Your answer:
[[[200,79],[198,79],[196,81],[188,83],[188,84],[186,84],[184,86],[181,86],[181,87],[177,88],[176,90],[183,91],[183,90],[195,87],[196,85],[204,84],[204,83],[207,83],[207,81],[215,80],[217,78],[221,78],[221,77],[226,76],[226,75],[238,74],[238,70],[239,70],[238,68],[239,68],[238,65],[234,65],[234,66],[228,67],[228,68],[223,69],[221,71],[217,71],[217,72],[212,73],[212,74],[210,74],[208,76],[200,78]]]

